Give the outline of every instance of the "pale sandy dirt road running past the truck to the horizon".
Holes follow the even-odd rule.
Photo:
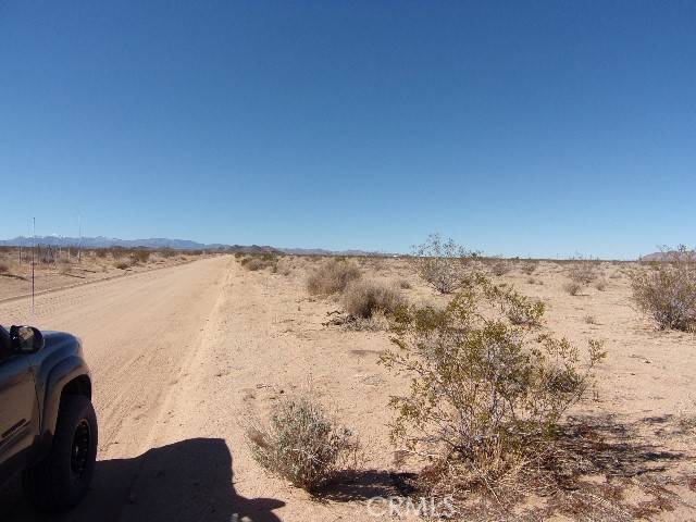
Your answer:
[[[152,446],[158,423],[166,423],[163,408],[198,362],[194,356],[231,264],[232,258],[212,258],[40,296],[34,315],[26,299],[0,304],[4,324],[34,324],[78,335],[92,369],[100,424],[95,484],[83,506],[54,520],[120,520],[124,506],[135,502],[134,482],[150,459],[173,459],[191,467],[178,470],[187,484],[195,482],[189,478],[196,473],[207,475],[221,484],[228,497],[225,501],[234,499],[231,455],[224,440],[197,438],[178,440],[170,448]],[[220,473],[226,476],[211,474],[210,462],[220,464]],[[160,498],[179,493],[176,488],[161,492]],[[44,520],[27,508],[16,484],[0,495],[0,520]],[[134,513],[130,520],[138,519]]]

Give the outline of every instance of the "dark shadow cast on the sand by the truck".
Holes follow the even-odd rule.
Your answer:
[[[249,499],[233,486],[232,453],[220,438],[192,438],[133,459],[97,462],[87,498],[61,515],[36,513],[18,484],[0,492],[0,520],[51,522],[274,522],[273,498]]]

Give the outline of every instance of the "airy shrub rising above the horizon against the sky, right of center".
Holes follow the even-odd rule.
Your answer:
[[[472,276],[472,261],[476,252],[431,234],[423,245],[413,248],[410,258],[418,274],[440,294],[451,294],[465,285]]]

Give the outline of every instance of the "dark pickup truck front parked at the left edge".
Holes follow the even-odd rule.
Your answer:
[[[0,326],[0,487],[21,473],[38,510],[76,506],[94,475],[97,437],[79,339]]]

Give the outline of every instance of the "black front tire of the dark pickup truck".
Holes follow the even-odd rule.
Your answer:
[[[25,494],[37,509],[59,512],[85,497],[95,473],[97,438],[97,415],[89,399],[63,397],[50,452],[23,475]]]

